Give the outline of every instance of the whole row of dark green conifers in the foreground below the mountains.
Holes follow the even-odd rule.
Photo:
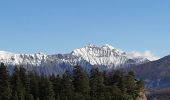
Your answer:
[[[106,73],[96,68],[88,75],[76,65],[73,72],[47,76],[23,67],[9,74],[0,65],[0,100],[136,100],[143,87],[132,71]]]

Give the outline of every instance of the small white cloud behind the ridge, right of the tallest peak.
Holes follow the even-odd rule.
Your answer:
[[[131,54],[134,57],[142,56],[142,57],[145,57],[145,58],[147,58],[148,60],[151,60],[151,61],[159,59],[159,57],[154,55],[150,50],[146,50],[144,52],[132,51]]]

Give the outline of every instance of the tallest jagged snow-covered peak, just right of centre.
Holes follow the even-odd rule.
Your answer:
[[[143,57],[129,57],[128,53],[116,49],[109,44],[103,46],[96,46],[89,44],[83,48],[75,49],[72,53],[74,56],[81,57],[82,59],[90,62],[91,65],[104,65],[104,66],[121,66],[133,59],[134,62],[143,62]]]

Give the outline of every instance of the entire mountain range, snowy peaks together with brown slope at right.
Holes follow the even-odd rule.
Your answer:
[[[61,75],[65,71],[71,71],[76,64],[81,65],[87,73],[96,67],[100,71],[133,70],[138,78],[144,79],[148,88],[170,87],[170,56],[149,61],[144,56],[136,56],[108,44],[100,47],[89,44],[68,54],[53,55],[0,51],[0,62],[5,63],[9,71],[12,71],[14,66],[23,66],[27,71],[47,75]]]

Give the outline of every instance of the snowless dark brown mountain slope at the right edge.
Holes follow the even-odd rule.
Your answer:
[[[131,68],[144,79],[147,88],[170,87],[170,56]]]

